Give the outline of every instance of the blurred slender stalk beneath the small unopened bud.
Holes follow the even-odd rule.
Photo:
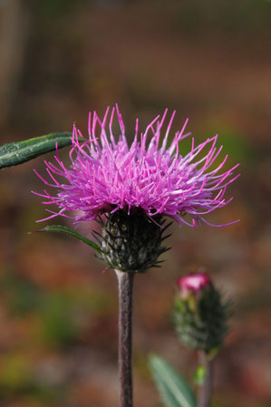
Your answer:
[[[199,352],[199,360],[206,368],[205,381],[198,391],[198,407],[209,407],[213,389],[214,361],[209,360],[208,354]]]

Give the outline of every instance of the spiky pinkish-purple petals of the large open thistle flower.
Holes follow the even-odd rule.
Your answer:
[[[166,215],[179,225],[189,224],[183,218],[185,214],[192,218],[189,226],[208,223],[203,215],[224,207],[231,200],[225,200],[224,194],[227,185],[237,178],[233,176],[237,165],[219,173],[226,156],[215,167],[222,149],[216,147],[218,136],[197,147],[192,139],[189,154],[182,156],[179,142],[190,135],[185,133],[188,120],[172,139],[170,128],[175,111],[162,133],[167,112],[162,117],[157,116],[140,134],[137,120],[131,147],[118,106],[111,112],[108,108],[102,119],[95,111],[90,114],[89,140],[85,142],[79,140],[82,134],[74,126],[71,164],[66,168],[56,154],[56,165],[45,161],[52,181],[39,176],[46,185],[57,190],[55,196],[46,190],[44,194],[37,194],[47,199],[44,204],[60,208],[58,212],[48,210],[49,218],[69,217],[66,211],[72,210],[76,211],[73,217],[76,220],[91,220],[104,212],[123,209],[129,214],[131,208],[141,208],[149,217]],[[115,113],[120,127],[117,138],[112,131]]]

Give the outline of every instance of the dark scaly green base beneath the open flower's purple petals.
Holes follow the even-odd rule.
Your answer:
[[[112,268],[131,273],[144,273],[158,266],[158,257],[166,250],[161,243],[163,227],[161,216],[148,218],[139,208],[118,210],[102,222],[102,259]]]

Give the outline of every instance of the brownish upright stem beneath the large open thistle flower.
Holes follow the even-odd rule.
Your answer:
[[[132,407],[131,333],[133,273],[115,270],[119,282],[120,407]]]

